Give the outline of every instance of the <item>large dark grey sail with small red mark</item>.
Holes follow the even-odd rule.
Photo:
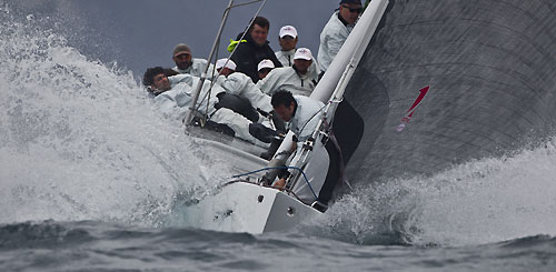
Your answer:
[[[351,181],[431,174],[542,143],[556,120],[556,1],[390,1],[346,99],[365,120]]]

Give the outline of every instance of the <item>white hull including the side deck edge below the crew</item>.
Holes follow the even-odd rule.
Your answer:
[[[205,131],[203,137],[211,135]],[[215,139],[193,138],[206,152],[217,153],[231,167],[232,174],[247,173],[262,169],[268,163],[255,154],[238,148],[241,142],[220,142]],[[256,181],[261,173],[248,178]],[[291,229],[302,221],[316,218],[321,212],[300,202],[292,195],[272,188],[255,183],[236,182],[221,188],[215,195],[203,198],[199,203],[183,211],[190,226],[225,231],[248,232],[259,234],[269,231]]]

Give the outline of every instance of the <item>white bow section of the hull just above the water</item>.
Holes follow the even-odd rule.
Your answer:
[[[187,211],[203,230],[259,234],[284,231],[322,213],[276,189],[236,182]]]

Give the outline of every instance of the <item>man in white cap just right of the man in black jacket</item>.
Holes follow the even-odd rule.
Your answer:
[[[278,42],[280,43],[281,50],[275,52],[275,54],[284,67],[294,66],[294,54],[296,53],[298,40],[299,37],[297,34],[297,29],[294,26],[284,26],[280,29]],[[315,60],[315,58],[312,58],[312,63],[309,67],[309,72],[312,73],[311,77],[314,78],[318,78],[318,74],[320,73],[320,70],[317,66],[317,60]]]

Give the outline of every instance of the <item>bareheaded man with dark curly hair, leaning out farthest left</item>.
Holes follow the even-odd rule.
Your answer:
[[[148,88],[149,92],[155,95],[155,103],[158,108],[165,115],[170,118],[173,117],[179,120],[182,120],[189,111],[192,103],[193,91],[198,82],[199,78],[191,74],[166,77],[161,67],[147,69],[143,77],[143,84]],[[210,104],[207,108],[206,99],[208,99],[207,93],[210,89],[210,81],[206,81],[201,89],[199,101],[197,102],[197,105],[200,105],[199,111],[207,114],[210,121],[228,125],[234,130],[235,137],[260,147],[268,147],[268,144],[257,140],[249,133],[251,121],[247,118],[226,108],[215,108],[215,104],[218,102],[217,94],[225,92],[219,84],[212,85]]]

